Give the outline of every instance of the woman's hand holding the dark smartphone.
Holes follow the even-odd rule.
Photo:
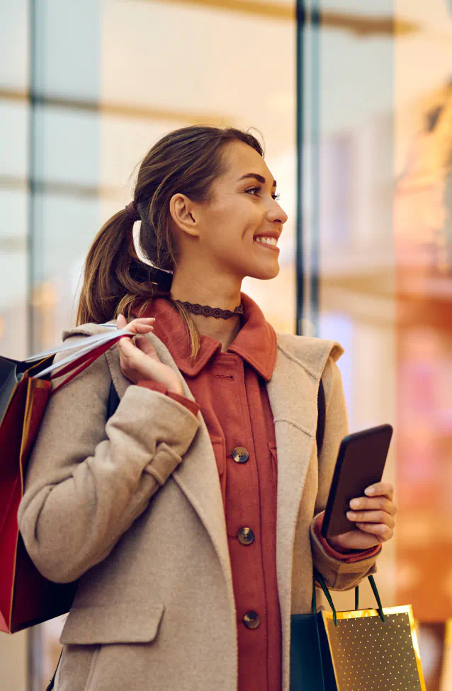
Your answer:
[[[347,518],[356,522],[356,530],[329,537],[327,542],[337,552],[351,549],[369,549],[375,544],[388,542],[394,535],[397,506],[392,501],[394,487],[378,482],[365,490],[366,496],[352,499]]]

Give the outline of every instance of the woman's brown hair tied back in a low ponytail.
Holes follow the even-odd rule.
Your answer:
[[[176,193],[193,201],[210,198],[210,185],[225,171],[222,152],[230,142],[244,142],[264,156],[261,144],[249,132],[209,125],[182,127],[162,137],[147,152],[137,176],[133,200],[140,215],[140,249],[154,266],[135,251],[134,220],[125,209],[101,227],[84,264],[77,325],[101,324],[124,314],[143,314],[154,297],[165,297],[179,311],[196,360],[200,339],[190,312],[171,298],[170,272],[177,248],[171,234],[169,201]]]

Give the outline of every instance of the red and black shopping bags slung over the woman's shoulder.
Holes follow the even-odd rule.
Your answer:
[[[24,361],[0,356],[0,631],[26,629],[68,612],[72,605],[77,581],[53,583],[44,578],[18,530],[26,464],[50,396],[130,335],[125,328],[84,338],[81,349],[58,362],[53,362],[55,354],[73,349],[74,339]],[[65,375],[52,390],[51,379]]]

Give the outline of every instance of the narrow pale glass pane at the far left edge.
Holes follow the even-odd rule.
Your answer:
[[[28,0],[0,3],[0,354],[28,354]],[[0,686],[26,691],[28,635],[0,634]]]

